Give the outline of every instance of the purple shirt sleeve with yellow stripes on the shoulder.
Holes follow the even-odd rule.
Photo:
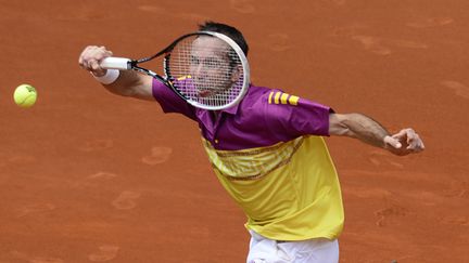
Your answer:
[[[301,135],[329,136],[332,108],[278,90],[271,91],[264,102],[265,124],[279,140]]]

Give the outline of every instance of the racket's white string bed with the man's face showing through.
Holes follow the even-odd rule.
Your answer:
[[[241,93],[244,73],[236,51],[219,40],[210,47],[180,41],[166,56],[166,74],[185,97],[207,106],[223,106]]]

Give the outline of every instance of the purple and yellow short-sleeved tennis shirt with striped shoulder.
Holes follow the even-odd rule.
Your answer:
[[[344,213],[339,179],[321,136],[329,107],[251,86],[216,117],[153,81],[165,113],[197,121],[212,167],[248,215],[246,228],[276,240],[337,238]]]

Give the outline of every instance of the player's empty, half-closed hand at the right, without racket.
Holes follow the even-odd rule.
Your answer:
[[[408,155],[419,153],[424,149],[420,136],[410,128],[384,137],[385,148],[395,155]]]

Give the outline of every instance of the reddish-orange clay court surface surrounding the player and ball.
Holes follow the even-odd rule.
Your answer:
[[[87,44],[151,54],[214,19],[241,29],[256,84],[413,127],[405,158],[328,139],[341,262],[469,262],[466,0],[0,0],[0,262],[243,262],[244,215],[195,123],[114,96]],[[204,6],[204,8],[203,8]],[[38,103],[12,101],[28,82]]]

